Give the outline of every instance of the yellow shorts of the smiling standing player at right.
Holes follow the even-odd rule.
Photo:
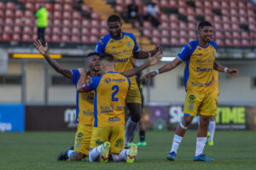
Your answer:
[[[184,115],[215,116],[216,114],[216,94],[200,94],[197,92],[187,92],[184,104]]]

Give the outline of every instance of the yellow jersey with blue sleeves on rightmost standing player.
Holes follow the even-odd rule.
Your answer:
[[[185,61],[184,84],[186,91],[210,93],[214,90],[213,65],[217,54],[217,45],[210,41],[202,47],[198,41],[183,46],[177,58]]]

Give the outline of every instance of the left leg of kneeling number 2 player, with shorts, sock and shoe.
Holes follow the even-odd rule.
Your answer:
[[[93,127],[91,140],[89,161],[108,161],[108,152],[111,144],[108,142],[109,127]]]

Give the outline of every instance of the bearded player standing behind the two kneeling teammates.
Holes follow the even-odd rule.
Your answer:
[[[145,59],[148,56],[153,56],[158,51],[161,52],[160,47],[148,52],[141,51],[138,48],[136,37],[132,33],[122,31],[122,23],[118,15],[110,15],[107,22],[109,34],[97,42],[96,53],[112,54],[117,72],[128,71],[133,68],[131,64],[132,56],[136,59]],[[142,115],[142,99],[135,77],[131,77],[131,88],[127,94],[126,105],[131,115],[125,126],[125,144],[127,146]]]

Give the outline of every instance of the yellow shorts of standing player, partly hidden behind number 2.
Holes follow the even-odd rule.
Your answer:
[[[136,81],[131,80],[131,88],[127,93],[126,103],[142,103],[142,96]]]

